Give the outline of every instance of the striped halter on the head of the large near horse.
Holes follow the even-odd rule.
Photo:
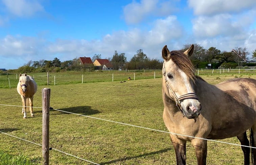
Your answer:
[[[184,115],[184,112],[182,111],[182,107],[181,107],[181,101],[182,100],[186,100],[186,99],[195,99],[195,100],[198,100],[197,96],[195,93],[187,93],[187,94],[183,94],[181,95],[180,97],[177,97],[177,95],[175,94],[175,92],[172,90],[171,86],[169,85],[168,81],[167,81],[167,75],[166,75],[166,72],[165,72],[165,65],[163,63],[163,76],[165,78],[165,85],[166,85],[166,90],[167,90],[167,94],[169,96],[169,98],[173,99],[171,96],[170,96],[170,93],[169,93],[169,90],[171,91],[172,95],[174,96],[174,101],[176,102],[176,106],[179,108],[179,110],[183,113]]]

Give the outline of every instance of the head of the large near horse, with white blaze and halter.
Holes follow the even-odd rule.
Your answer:
[[[193,89],[196,81],[194,67],[188,58],[193,51],[194,45],[185,52],[170,52],[167,46],[162,50],[163,91],[176,102],[179,110],[189,119],[197,118],[201,111],[201,103]]]

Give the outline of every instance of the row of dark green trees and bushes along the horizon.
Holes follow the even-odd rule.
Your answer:
[[[191,44],[183,45],[181,51],[187,50]],[[218,68],[219,66],[225,68],[241,67],[247,63],[242,63],[243,59],[248,59],[250,54],[246,47],[235,47],[236,53],[220,51],[215,47],[210,47],[205,49],[200,44],[194,44],[194,53],[190,57],[195,68],[207,68],[208,64],[211,64],[211,68]],[[256,59],[256,49],[252,52],[253,58]],[[241,58],[242,57],[242,58]],[[101,54],[94,54],[92,61],[96,59],[101,59]],[[150,59],[139,49],[136,54],[127,61],[125,53],[120,53],[115,50],[112,57],[108,58],[111,62],[113,70],[141,70],[149,69],[156,70],[162,69],[163,60],[161,59]],[[256,65],[256,64],[254,64]],[[95,68],[92,64],[81,65],[78,57],[73,60],[67,60],[61,62],[58,58],[51,60],[39,60],[39,61],[28,61],[23,66],[19,67],[19,72],[61,72],[61,71],[93,71]]]

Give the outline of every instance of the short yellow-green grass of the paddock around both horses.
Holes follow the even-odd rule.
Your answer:
[[[201,71],[200,71],[201,72]],[[231,73],[199,72],[199,75],[211,84],[235,77],[256,79],[255,71]],[[134,72],[136,74],[136,72]],[[133,76],[132,73],[131,75]],[[143,76],[143,72],[140,75]],[[147,72],[144,72],[144,74]],[[152,75],[153,72],[150,72]],[[65,73],[61,73],[64,77]],[[38,91],[34,95],[34,106],[42,107],[42,88],[51,88],[50,106],[54,109],[88,115],[101,119],[127,123],[131,125],[167,131],[162,113],[162,78],[127,80],[124,75],[112,82],[85,81],[82,74],[79,83],[48,86],[38,83]],[[95,74],[95,73],[93,73]],[[125,73],[122,73],[125,74]],[[70,74],[73,75],[73,74]],[[158,71],[157,75],[161,75]],[[13,75],[14,76],[14,75]],[[39,74],[38,74],[39,76]],[[59,73],[55,76],[60,76]],[[138,75],[139,76],[139,75]],[[153,74],[154,76],[154,74]],[[87,77],[90,77],[89,74]],[[16,90],[18,81],[14,76],[14,85],[4,87],[3,75],[0,78],[0,104],[21,106],[20,95]],[[6,79],[6,78],[5,78]],[[10,79],[10,78],[9,78]],[[35,79],[37,80],[36,74]],[[21,107],[0,105],[0,131],[28,141],[42,144],[42,109],[34,108],[35,117],[23,119]],[[29,115],[28,115],[29,116]],[[236,138],[221,141],[239,144]],[[42,164],[42,147],[29,142],[0,134],[0,150],[9,155],[23,154]],[[166,165],[176,164],[174,149],[168,133],[121,125],[109,121],[68,114],[57,110],[50,111],[50,147],[68,154],[105,165]],[[196,165],[196,157],[191,144],[187,143],[187,164]],[[89,165],[86,161],[50,150],[51,165]],[[208,142],[207,164],[240,165],[243,154],[239,146],[217,142]]]

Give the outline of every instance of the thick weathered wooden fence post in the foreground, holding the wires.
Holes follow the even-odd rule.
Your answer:
[[[42,89],[43,100],[43,165],[49,165],[49,117],[50,117],[50,88]]]

